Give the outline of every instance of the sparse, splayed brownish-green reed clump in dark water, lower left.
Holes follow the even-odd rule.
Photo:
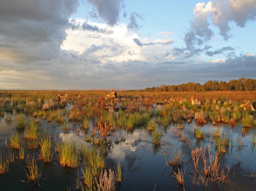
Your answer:
[[[26,176],[29,179],[29,182],[39,184],[39,180],[42,176],[42,170],[38,167],[34,155],[33,157],[29,157],[28,155],[28,157],[26,158],[26,162],[28,165],[26,166],[28,168],[28,172],[25,169],[24,170],[26,172]]]

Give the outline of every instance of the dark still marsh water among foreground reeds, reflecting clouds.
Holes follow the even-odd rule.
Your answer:
[[[15,131],[15,115],[10,124],[5,122],[6,115],[0,120],[0,147],[2,155],[7,156],[11,148],[6,148],[4,140]],[[206,136],[205,139],[198,141],[194,137],[194,122],[190,124],[184,123],[184,135],[190,139],[191,147],[211,145],[211,153],[215,153],[215,143],[211,142],[211,137]],[[76,125],[70,124],[71,131],[69,134],[63,133],[61,127],[52,122],[40,120],[39,127],[41,130],[47,131],[55,140],[64,142],[75,141],[77,145],[88,144],[84,141],[85,132],[80,130]],[[185,190],[256,190],[256,154],[251,138],[256,134],[254,128],[245,129],[246,133],[242,134],[241,125],[231,127],[230,125],[220,124],[213,126],[206,124],[200,127],[206,134],[211,134],[214,129],[219,128],[226,132],[230,146],[226,153],[220,159],[220,168],[227,165],[230,169],[231,183],[228,185],[214,185],[211,181],[205,182],[204,176],[201,174],[202,162],[199,163],[199,176],[196,176],[193,161],[191,160],[191,148],[186,142],[181,142],[176,137],[176,124],[171,124],[168,128],[158,127],[163,132],[161,140],[162,145],[158,148],[154,147],[150,133],[147,129],[137,128],[133,132],[118,129],[115,131],[111,139],[114,141],[125,137],[125,142],[113,144],[113,148],[108,152],[106,158],[106,168],[113,168],[118,161],[122,164],[122,182],[117,186],[119,190],[183,190],[179,187],[176,179],[172,177],[173,167],[166,166],[165,158],[169,159],[174,150],[181,149],[184,153],[182,170],[185,171]],[[73,129],[73,130],[72,130]],[[238,145],[238,140],[243,142],[244,146]],[[37,149],[25,149],[25,157],[27,154],[34,154],[38,157]],[[239,163],[240,159],[240,163]],[[81,177],[80,167],[77,169],[62,168],[54,153],[53,162],[50,164],[38,161],[42,167],[42,178],[40,186],[26,183],[28,181],[25,170],[27,170],[26,161],[15,159],[14,163],[10,163],[7,173],[0,175],[0,190],[76,190],[76,179]],[[226,170],[226,169],[225,169]],[[208,178],[209,179],[209,178]],[[82,180],[82,179],[81,179]],[[25,183],[24,183],[24,182]]]

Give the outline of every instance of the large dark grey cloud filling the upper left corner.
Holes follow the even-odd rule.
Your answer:
[[[16,62],[27,64],[57,58],[77,6],[73,0],[4,1],[0,5],[2,49],[15,55]]]

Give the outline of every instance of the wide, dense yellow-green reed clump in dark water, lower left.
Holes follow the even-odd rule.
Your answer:
[[[78,149],[74,142],[60,144],[58,160],[62,167],[78,167]]]

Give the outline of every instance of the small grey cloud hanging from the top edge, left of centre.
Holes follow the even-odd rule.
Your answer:
[[[100,18],[113,26],[119,20],[119,13],[123,7],[123,0],[88,0],[88,2],[97,10]],[[91,13],[91,17],[97,18],[95,12]]]

